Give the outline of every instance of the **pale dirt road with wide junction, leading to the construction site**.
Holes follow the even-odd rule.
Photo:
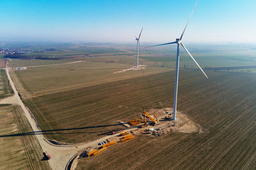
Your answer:
[[[24,106],[22,101],[20,100],[20,97],[18,95],[17,90],[15,89],[15,86],[13,84],[12,79],[10,78],[9,74],[9,68],[6,68],[6,74],[8,76],[8,80],[10,81],[10,85],[12,86],[14,95],[12,97],[7,97],[0,101],[0,104],[17,104],[21,106],[22,110],[24,111],[26,118],[28,118],[28,122],[31,125],[31,128],[34,132],[40,132],[41,129],[36,125],[35,120],[33,117],[31,117],[31,114],[27,110],[27,108]],[[132,130],[132,129],[131,129]],[[119,134],[115,134],[113,136],[117,136]],[[74,146],[54,146],[45,141],[43,134],[35,134],[36,138],[38,139],[38,142],[40,143],[40,146],[42,147],[42,150],[47,151],[51,155],[51,159],[49,160],[49,164],[52,169],[65,169],[68,160],[70,160],[77,152],[84,150],[88,146],[92,146],[92,148],[96,147],[97,144],[101,141],[104,141],[109,138],[109,136],[105,136],[104,138],[97,139],[92,142],[74,145]],[[112,137],[112,136],[111,136]],[[43,157],[43,155],[42,155]]]

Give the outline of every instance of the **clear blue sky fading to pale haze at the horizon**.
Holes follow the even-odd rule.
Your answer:
[[[1,39],[173,41],[196,0],[1,0]],[[184,41],[256,43],[255,0],[199,0]]]

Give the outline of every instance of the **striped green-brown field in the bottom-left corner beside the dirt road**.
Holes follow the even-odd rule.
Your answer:
[[[19,136],[32,130],[22,109],[1,105],[0,117],[0,169],[50,169],[36,137]]]

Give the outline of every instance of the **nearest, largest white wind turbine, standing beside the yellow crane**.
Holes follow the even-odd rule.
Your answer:
[[[196,1],[197,4],[198,0]],[[191,15],[193,14],[193,11],[196,8],[196,4],[189,16],[188,22],[191,18]],[[174,103],[173,103],[173,120],[176,120],[176,113],[177,113],[177,92],[178,92],[178,79],[179,79],[179,55],[180,55],[180,45],[186,50],[186,52],[188,52],[189,56],[195,61],[196,65],[200,68],[200,70],[204,73],[203,69],[199,66],[199,64],[196,62],[196,60],[194,59],[194,57],[191,55],[191,53],[189,53],[189,51],[187,50],[187,48],[184,46],[184,44],[182,43],[182,37],[184,35],[184,32],[186,31],[186,28],[188,26],[188,22],[184,28],[184,31],[182,32],[180,38],[177,38],[176,41],[171,42],[171,43],[164,43],[164,44],[160,44],[160,45],[170,45],[170,44],[177,44],[177,58],[176,58],[176,71],[175,71],[175,89],[174,89]],[[160,45],[153,45],[153,46],[160,46]],[[148,47],[152,47],[152,46],[148,46]],[[147,47],[147,48],[148,48]],[[204,75],[207,77],[207,75],[204,73]]]

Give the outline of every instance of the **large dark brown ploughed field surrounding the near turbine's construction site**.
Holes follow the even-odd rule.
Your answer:
[[[21,73],[21,72],[20,72]],[[81,168],[206,169],[255,168],[256,76],[180,71],[178,110],[201,125],[203,133],[170,133],[161,138],[136,136]],[[174,72],[92,85],[26,100],[45,136],[68,143],[99,138],[119,128],[118,121],[138,118],[147,108],[170,107]],[[109,157],[109,155],[112,155]],[[157,166],[156,166],[157,165]],[[154,168],[155,167],[155,168]]]

